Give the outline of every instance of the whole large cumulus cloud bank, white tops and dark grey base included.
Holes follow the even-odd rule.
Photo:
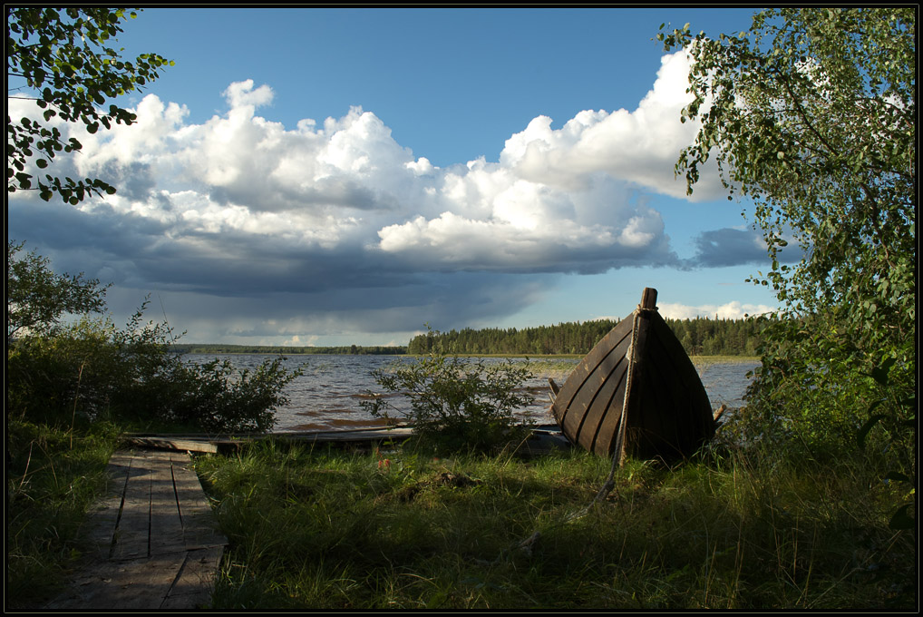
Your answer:
[[[540,116],[497,162],[446,168],[361,107],[319,124],[270,121],[259,113],[274,92],[252,79],[232,83],[226,111],[201,124],[149,94],[131,127],[62,126],[84,150],[55,172],[110,178],[119,192],[76,208],[17,194],[11,236],[116,284],[261,298],[238,310],[253,324],[270,306],[266,328],[290,340],[306,340],[324,311],[398,330],[419,328],[427,308],[468,321],[508,314],[541,293],[539,274],[681,265],[643,194],[685,196],[673,165],[694,132],[678,122],[687,63],[665,56],[633,111],[584,111],[558,129]],[[10,102],[13,114],[27,105]],[[197,306],[189,319],[209,314],[209,302]]]

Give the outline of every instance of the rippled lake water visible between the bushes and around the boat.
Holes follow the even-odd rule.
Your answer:
[[[265,359],[273,356],[262,354],[213,354],[200,356],[189,354],[187,359],[206,362],[218,357],[230,360],[237,369],[254,369]],[[749,382],[747,372],[759,366],[758,362],[713,362],[702,364],[692,358],[699,369],[702,384],[712,401],[713,408],[719,405],[737,407],[743,405],[741,397]],[[374,369],[384,369],[395,362],[413,362],[407,356],[290,356],[284,362],[286,369],[299,367],[304,371],[286,387],[289,404],[276,411],[275,431],[292,430],[337,430],[360,429],[380,426],[381,421],[369,416],[360,406],[367,391],[380,391],[371,376]],[[506,362],[504,358],[485,358],[485,363]],[[548,377],[563,385],[570,371],[577,366],[579,358],[532,359],[535,378],[525,384],[533,395],[533,405],[522,409],[523,417],[539,423],[554,423],[548,414]],[[401,405],[400,397],[393,398],[395,405]]]

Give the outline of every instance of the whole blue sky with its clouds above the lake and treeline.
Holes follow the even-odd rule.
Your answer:
[[[148,8],[124,57],[174,60],[54,172],[7,238],[112,284],[125,323],[182,342],[406,345],[438,331],[774,309],[747,202],[674,175],[696,127],[661,23],[716,36],[750,9]],[[11,115],[34,105],[8,100]],[[106,103],[108,105],[108,102]]]

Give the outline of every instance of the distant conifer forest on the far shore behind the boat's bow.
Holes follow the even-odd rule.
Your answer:
[[[665,320],[689,356],[756,356],[758,326],[750,320]],[[409,354],[587,354],[617,321],[576,321],[537,328],[452,330],[414,336]]]

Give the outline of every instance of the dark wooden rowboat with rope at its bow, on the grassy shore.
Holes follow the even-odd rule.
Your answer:
[[[551,381],[552,413],[564,435],[619,461],[688,457],[714,434],[699,373],[656,309],[657,290],[620,321],[569,375]]]

